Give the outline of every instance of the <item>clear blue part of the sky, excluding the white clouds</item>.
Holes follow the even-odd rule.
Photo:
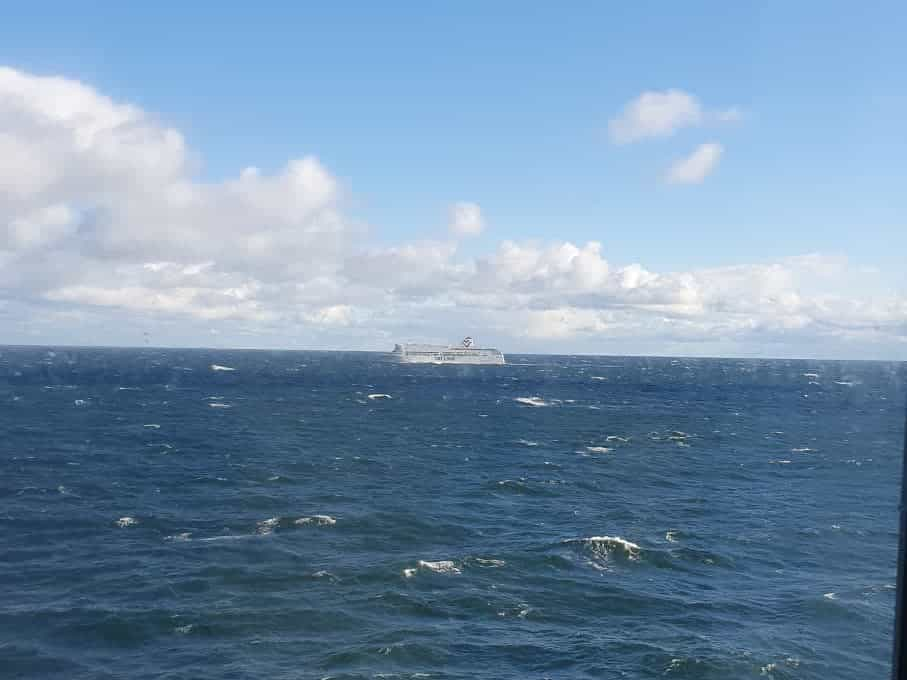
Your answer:
[[[470,201],[485,229],[464,257],[594,240],[683,272],[823,253],[903,295],[905,34],[895,2],[32,2],[5,9],[0,64],[177,129],[201,183],[314,155],[374,247],[444,238]],[[672,89],[740,120],[609,139]],[[708,142],[704,181],[663,181]]]

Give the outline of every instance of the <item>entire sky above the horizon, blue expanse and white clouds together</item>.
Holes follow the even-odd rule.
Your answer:
[[[907,359],[907,6],[16,3],[0,344]]]

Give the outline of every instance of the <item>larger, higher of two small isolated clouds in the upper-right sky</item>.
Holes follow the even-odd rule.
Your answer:
[[[706,111],[699,99],[683,90],[647,91],[628,102],[620,114],[608,122],[608,132],[615,144],[629,144],[643,139],[670,137],[685,127],[714,120],[737,121],[738,109]]]

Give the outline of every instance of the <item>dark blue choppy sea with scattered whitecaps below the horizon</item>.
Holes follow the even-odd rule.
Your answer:
[[[903,365],[0,348],[4,678],[881,678]]]

